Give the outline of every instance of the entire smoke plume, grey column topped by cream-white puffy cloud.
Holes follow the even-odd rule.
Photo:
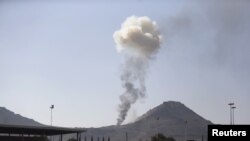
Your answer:
[[[155,21],[148,17],[128,17],[113,35],[117,51],[124,55],[117,125],[122,124],[132,104],[146,95],[145,75],[149,60],[160,48],[161,36]]]

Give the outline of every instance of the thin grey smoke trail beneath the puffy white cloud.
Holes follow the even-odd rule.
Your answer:
[[[121,104],[119,105],[118,125],[125,120],[131,105],[134,104],[138,98],[143,98],[146,95],[144,83],[145,70],[146,62],[142,62],[142,60],[138,58],[126,59],[121,76],[125,92],[120,96]]]

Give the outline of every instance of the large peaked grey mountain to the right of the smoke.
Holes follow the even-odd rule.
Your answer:
[[[102,128],[90,128],[85,133],[86,140],[110,137],[112,141],[146,141],[150,137],[163,133],[165,136],[174,137],[182,141],[185,134],[188,140],[206,139],[207,125],[210,121],[196,114],[184,104],[175,101],[164,102],[149,110],[139,117],[134,123],[122,126],[108,126]],[[85,138],[84,136],[84,138]],[[96,139],[98,141],[98,139]]]

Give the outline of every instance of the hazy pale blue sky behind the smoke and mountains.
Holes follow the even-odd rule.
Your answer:
[[[0,106],[50,124],[116,124],[122,56],[114,31],[131,15],[159,25],[161,49],[147,97],[125,123],[163,101],[180,101],[214,123],[250,124],[250,2],[0,1]]]

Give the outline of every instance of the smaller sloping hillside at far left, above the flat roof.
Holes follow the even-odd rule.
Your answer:
[[[0,124],[41,126],[42,124],[0,107]]]

